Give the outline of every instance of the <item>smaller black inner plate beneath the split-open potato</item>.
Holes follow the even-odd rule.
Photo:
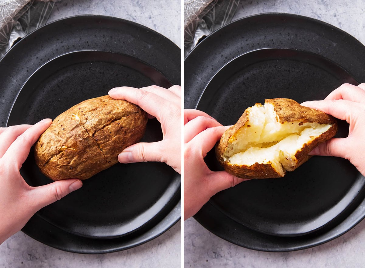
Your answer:
[[[196,108],[224,125],[232,125],[245,107],[264,103],[265,98],[291,98],[299,102],[323,99],[343,83],[357,81],[317,54],[297,49],[257,49],[224,65],[204,88]],[[339,125],[337,137],[347,137],[348,125]],[[205,161],[211,170],[223,170],[214,150]],[[318,230],[340,215],[348,215],[346,209],[358,202],[364,185],[364,177],[349,161],[317,156],[288,172],[285,178],[245,182],[219,192],[210,203],[255,231],[297,236]]]

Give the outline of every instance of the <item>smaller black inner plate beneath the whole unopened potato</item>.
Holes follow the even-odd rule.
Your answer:
[[[171,86],[164,75],[137,58],[98,50],[62,54],[37,69],[24,83],[7,125],[54,119],[85,99],[106,95],[113,87],[151,84]],[[149,120],[142,141],[161,139],[160,124]],[[31,186],[51,182],[38,170],[33,152],[20,173]],[[156,217],[164,217],[175,206],[170,201],[179,190],[180,175],[164,163],[117,164],[84,181],[80,190],[37,215],[72,234],[115,238],[140,229]]]

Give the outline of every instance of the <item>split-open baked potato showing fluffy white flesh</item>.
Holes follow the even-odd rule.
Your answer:
[[[308,153],[337,132],[334,117],[292,99],[266,99],[245,110],[223,133],[216,158],[239,178],[278,178],[295,170]]]

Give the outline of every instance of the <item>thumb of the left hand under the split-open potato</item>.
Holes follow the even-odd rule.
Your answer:
[[[209,176],[209,189],[211,196],[216,193],[233,187],[243,181],[248,181],[249,179],[237,178],[227,171],[216,171]]]

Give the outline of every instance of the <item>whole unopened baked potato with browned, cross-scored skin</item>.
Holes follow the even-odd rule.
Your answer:
[[[118,154],[141,140],[147,120],[130,102],[88,99],[53,120],[35,144],[35,162],[54,181],[86,180],[118,163]]]

